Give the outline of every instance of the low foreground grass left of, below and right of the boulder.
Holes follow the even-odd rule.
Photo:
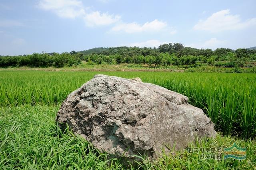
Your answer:
[[[256,168],[255,141],[223,138],[203,139],[191,147],[225,148],[236,142],[246,147],[246,160],[200,159],[197,153],[186,150],[175,155],[164,154],[154,162],[143,162],[126,167],[116,159],[108,159],[80,137],[62,132],[54,118],[58,106],[23,105],[0,107],[0,169],[81,169],[81,170],[170,170],[170,169],[254,169]]]

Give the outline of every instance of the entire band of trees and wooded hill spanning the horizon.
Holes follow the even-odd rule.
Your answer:
[[[162,44],[158,48],[110,47],[70,53],[33,53],[31,55],[0,57],[0,67],[70,67],[81,60],[88,64],[148,64],[150,67],[177,65],[196,67],[207,64],[217,67],[253,67],[246,61],[256,60],[256,50],[217,48],[196,49],[181,43]]]

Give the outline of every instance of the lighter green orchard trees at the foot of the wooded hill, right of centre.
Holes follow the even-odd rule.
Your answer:
[[[86,55],[84,59],[90,65],[94,64],[120,64],[120,63],[133,63],[133,64],[148,64],[150,67],[158,67],[176,65],[184,66],[189,65],[191,67],[196,67],[206,63],[208,65],[213,65],[217,67],[252,67],[252,65],[247,64],[246,61],[250,61],[250,58],[237,58],[234,55],[228,56],[229,60],[218,60],[216,56],[204,57],[186,55],[178,57],[175,53],[159,53],[158,55],[134,55],[132,57],[122,56],[122,55],[102,55],[102,54],[91,54]],[[256,55],[252,56],[252,59],[256,59]]]

